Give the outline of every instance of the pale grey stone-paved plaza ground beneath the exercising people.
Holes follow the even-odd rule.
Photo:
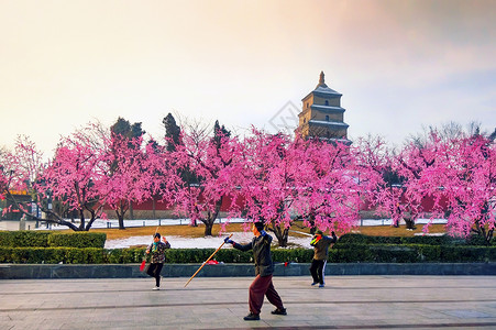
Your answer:
[[[288,315],[252,322],[252,278],[186,280],[0,280],[0,329],[496,329],[496,276],[275,277]]]

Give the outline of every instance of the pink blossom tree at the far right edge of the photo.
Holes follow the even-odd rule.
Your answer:
[[[475,233],[489,244],[496,212],[496,147],[481,134],[451,139],[439,150],[439,162],[423,184],[448,199],[447,228],[456,237]],[[437,202],[442,211],[442,205]]]

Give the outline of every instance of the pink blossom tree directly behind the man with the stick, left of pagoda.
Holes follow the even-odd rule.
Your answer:
[[[282,246],[287,245],[300,174],[307,174],[294,166],[296,154],[290,144],[287,135],[253,130],[243,141],[242,170],[234,176],[240,187],[236,194],[244,200],[243,215],[271,226]]]

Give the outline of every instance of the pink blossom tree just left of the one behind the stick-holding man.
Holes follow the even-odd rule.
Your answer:
[[[222,202],[234,189],[230,174],[240,155],[238,139],[216,122],[213,136],[197,127],[180,141],[169,162],[183,180],[175,191],[177,212],[189,217],[191,224],[201,221],[205,235],[212,235]]]

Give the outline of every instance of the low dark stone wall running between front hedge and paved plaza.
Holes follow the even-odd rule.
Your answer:
[[[189,277],[201,264],[165,264],[164,277]],[[310,276],[308,263],[276,264],[275,276]],[[199,277],[254,276],[253,264],[206,265]],[[378,264],[350,263],[328,264],[326,275],[496,275],[496,263],[419,263]],[[0,279],[34,278],[137,278],[147,275],[140,272],[139,264],[0,264]]]

